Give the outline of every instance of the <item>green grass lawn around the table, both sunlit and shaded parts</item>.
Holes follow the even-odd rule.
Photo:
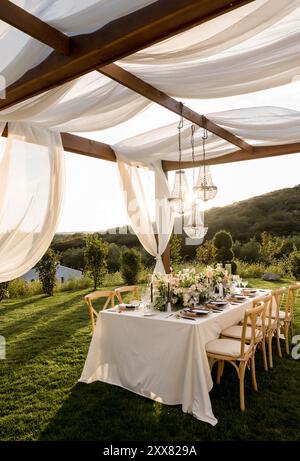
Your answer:
[[[219,420],[215,427],[182,413],[181,406],[161,405],[101,382],[78,383],[91,339],[86,293],[0,304],[0,334],[7,341],[7,360],[0,361],[0,440],[300,439],[300,360],[279,359],[276,352],[274,369],[267,373],[257,354],[258,393],[246,372],[245,413],[239,410],[235,371],[225,367],[221,385],[211,392]],[[299,301],[296,324],[299,334]]]

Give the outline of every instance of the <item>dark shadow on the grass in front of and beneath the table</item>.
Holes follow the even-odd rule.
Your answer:
[[[299,429],[293,426],[299,417],[296,381],[282,388],[282,373],[291,372],[294,363],[277,357],[274,362],[277,370],[266,373],[258,358],[258,393],[252,391],[251,373],[247,373],[244,413],[239,410],[235,370],[225,367],[221,385],[211,392],[219,420],[214,427],[182,413],[180,405],[162,405],[101,382],[78,383],[39,440],[297,440]]]

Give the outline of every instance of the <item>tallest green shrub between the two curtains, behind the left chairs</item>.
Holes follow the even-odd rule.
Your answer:
[[[107,272],[108,244],[98,234],[86,237],[85,260],[87,274],[93,279],[94,290],[103,281]]]

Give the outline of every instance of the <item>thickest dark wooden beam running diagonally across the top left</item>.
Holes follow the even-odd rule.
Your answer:
[[[0,110],[251,1],[253,0],[157,0],[95,32],[74,36],[69,56],[54,51],[42,63],[6,88],[6,99],[0,101]]]

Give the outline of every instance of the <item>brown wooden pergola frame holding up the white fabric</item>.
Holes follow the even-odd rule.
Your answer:
[[[7,109],[93,70],[110,77],[162,107],[183,115],[186,120],[238,147],[232,154],[208,160],[209,165],[260,159],[300,152],[300,143],[276,146],[252,146],[207,117],[182,106],[180,102],[114,64],[128,55],[174,36],[253,0],[157,0],[138,11],[106,24],[95,32],[68,37],[9,0],[1,0],[0,19],[53,49],[39,65],[26,72],[6,89],[0,110]],[[68,152],[116,162],[113,148],[98,141],[62,133]],[[3,136],[7,136],[7,130]],[[196,163],[183,162],[182,168]],[[164,171],[178,168],[176,161],[163,161]],[[169,248],[163,255],[169,269]]]

